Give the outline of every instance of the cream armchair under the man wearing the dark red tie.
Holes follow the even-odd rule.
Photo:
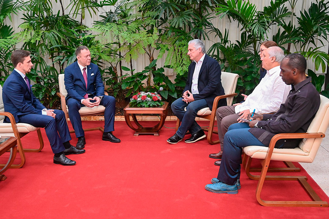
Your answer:
[[[61,98],[61,105],[62,105],[62,110],[65,114],[66,122],[68,122],[68,108],[66,105],[65,97],[67,95],[67,91],[65,89],[65,84],[64,84],[64,74],[58,75],[58,82],[59,82],[59,87],[60,87],[60,92],[57,93],[57,96]],[[108,95],[107,92],[105,92],[105,95]],[[96,116],[96,115],[104,115],[105,107],[102,105],[94,106],[92,108],[89,108],[87,106],[81,107],[79,110],[79,113],[81,116]],[[95,131],[95,130],[100,130],[104,132],[103,127],[96,127],[96,128],[89,128],[89,129],[84,129],[85,132],[87,131]],[[74,130],[70,131],[70,133],[74,133]]]

